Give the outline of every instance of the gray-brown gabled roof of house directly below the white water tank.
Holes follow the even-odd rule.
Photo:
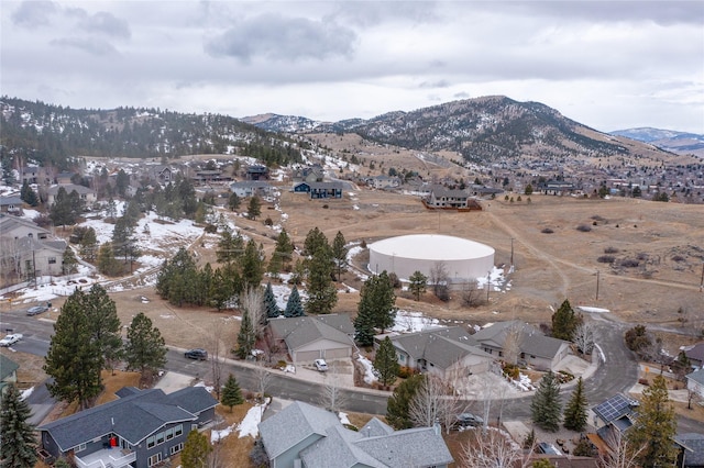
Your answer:
[[[389,338],[394,346],[406,352],[415,360],[426,359],[441,369],[449,368],[470,354],[493,359],[491,355],[476,347],[477,342],[461,326],[426,330]]]

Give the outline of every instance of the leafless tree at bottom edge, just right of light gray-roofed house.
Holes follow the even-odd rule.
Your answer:
[[[495,428],[474,431],[462,449],[462,461],[465,468],[516,468],[530,464],[521,448]]]

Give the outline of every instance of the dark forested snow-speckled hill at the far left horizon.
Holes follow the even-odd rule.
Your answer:
[[[266,164],[300,160],[293,141],[238,119],[160,109],[70,109],[0,98],[0,151],[66,168],[70,156],[178,157],[237,154]]]

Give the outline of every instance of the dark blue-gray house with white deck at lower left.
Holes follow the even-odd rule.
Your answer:
[[[82,467],[147,468],[183,450],[218,404],[205,387],[168,394],[124,387],[118,397],[37,427],[42,448],[55,458],[73,454]]]

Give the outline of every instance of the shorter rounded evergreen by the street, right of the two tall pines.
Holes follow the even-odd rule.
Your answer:
[[[124,358],[128,369],[139,369],[142,375],[154,371],[166,364],[166,345],[152,320],[140,312],[134,315],[128,328],[128,342],[124,346]]]

